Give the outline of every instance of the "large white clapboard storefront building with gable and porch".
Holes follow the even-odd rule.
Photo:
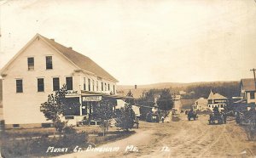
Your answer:
[[[65,119],[89,118],[103,98],[122,99],[118,82],[90,58],[37,34],[1,70],[3,119],[7,127],[41,127],[46,121],[40,105],[62,85],[67,87],[70,111]],[[79,103],[74,105],[74,103]]]

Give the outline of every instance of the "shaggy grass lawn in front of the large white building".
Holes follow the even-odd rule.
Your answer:
[[[46,153],[49,146],[74,149],[75,146],[86,148],[89,144],[106,144],[122,138],[127,138],[135,131],[124,132],[117,127],[109,127],[106,136],[99,136],[101,128],[98,126],[75,127],[77,133],[59,136],[42,137],[53,135],[55,128],[20,128],[7,129],[0,136],[2,151],[7,157],[49,157],[65,153]],[[84,134],[84,136],[83,136]],[[21,138],[21,139],[20,139]],[[68,150],[67,153],[73,152]],[[66,153],[66,154],[67,154]]]

